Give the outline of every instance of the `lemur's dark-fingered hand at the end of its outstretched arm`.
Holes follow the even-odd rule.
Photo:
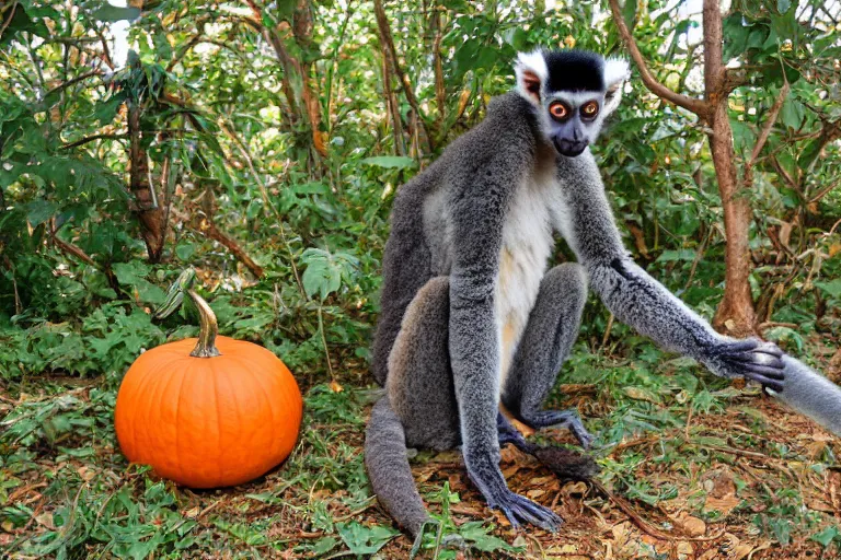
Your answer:
[[[756,338],[721,339],[705,349],[701,361],[723,377],[745,377],[775,392],[783,390],[783,351]]]

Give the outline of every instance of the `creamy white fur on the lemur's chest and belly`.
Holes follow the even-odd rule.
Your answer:
[[[495,294],[500,387],[510,371],[555,246],[551,206],[560,190],[554,166],[549,166],[518,185],[505,218]]]

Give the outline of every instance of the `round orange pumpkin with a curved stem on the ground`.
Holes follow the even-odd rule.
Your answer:
[[[289,456],[301,424],[301,394],[274,353],[216,337],[212,311],[188,289],[192,273],[186,280],[182,275],[181,295],[171,290],[157,316],[172,313],[186,291],[199,310],[199,338],[153,348],[131,364],[117,394],[117,439],[131,463],[151,465],[181,485],[240,485]]]

